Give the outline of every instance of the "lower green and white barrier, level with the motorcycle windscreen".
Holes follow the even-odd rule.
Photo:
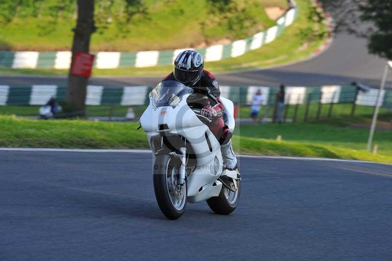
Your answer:
[[[149,103],[148,94],[153,87],[149,86],[87,86],[87,105],[144,105]],[[275,103],[278,87],[265,86],[221,86],[221,96],[230,99],[234,103],[250,104],[252,96],[260,89],[266,99],[264,105]],[[33,85],[33,86],[7,86],[0,85],[0,105],[41,105],[51,97],[58,101],[65,99],[67,88],[57,85]],[[355,86],[321,86],[321,87],[292,87],[286,86],[286,104],[312,104],[322,103],[353,103],[374,106],[378,89],[370,89],[368,92],[358,92]],[[383,94],[385,107],[392,107],[392,91],[387,90]]]

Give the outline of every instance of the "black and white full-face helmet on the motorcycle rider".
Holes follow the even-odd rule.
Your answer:
[[[174,78],[187,86],[193,86],[200,79],[203,68],[204,60],[200,53],[183,51],[175,58]]]

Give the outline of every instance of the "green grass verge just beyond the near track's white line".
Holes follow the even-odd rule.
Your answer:
[[[0,147],[148,148],[146,133],[142,130],[136,130],[137,127],[137,123],[92,122],[82,120],[37,121],[0,116]],[[249,128],[251,127],[249,126]],[[241,154],[346,158],[392,164],[392,155],[389,153],[374,156],[364,150],[354,150],[347,146],[339,148],[324,145],[319,143],[320,140],[322,141],[322,137],[319,137],[319,139],[315,138],[314,140],[308,139],[306,142],[275,141],[247,137],[246,135],[254,136],[253,133],[255,131],[262,132],[265,130],[244,128],[245,126],[242,126],[239,129],[241,135],[236,133],[237,135],[233,137],[234,148],[237,153]],[[259,128],[265,128],[265,126]],[[271,138],[275,136],[272,135],[273,131],[279,133],[282,130],[270,130]],[[305,135],[305,131],[307,133],[313,132],[314,126],[307,126],[306,130],[301,130],[300,132]],[[294,133],[299,132],[293,129],[292,133],[294,135]],[[332,137],[333,134],[331,133],[329,137]],[[283,137],[285,135],[283,134]],[[315,137],[317,137],[316,134]]]

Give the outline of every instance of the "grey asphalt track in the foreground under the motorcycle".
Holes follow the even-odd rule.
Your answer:
[[[0,151],[0,260],[392,260],[392,166],[239,160],[234,213],[170,221],[149,154]]]

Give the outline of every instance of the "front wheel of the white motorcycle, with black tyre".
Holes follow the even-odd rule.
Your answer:
[[[187,184],[179,185],[181,160],[170,155],[157,155],[153,180],[159,209],[169,219],[178,219],[187,206]]]

